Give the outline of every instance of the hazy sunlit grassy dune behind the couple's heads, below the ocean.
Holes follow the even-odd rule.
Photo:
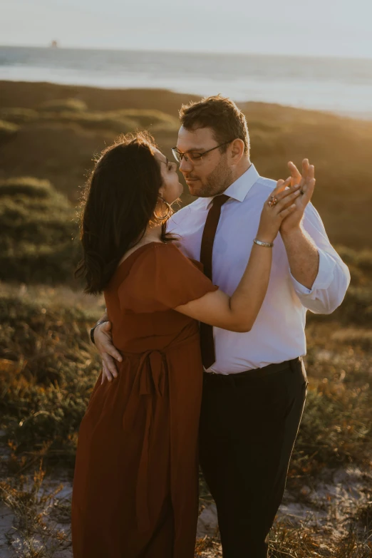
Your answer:
[[[76,202],[93,154],[120,132],[149,128],[171,156],[177,111],[196,97],[159,90],[0,81],[0,99],[0,178],[48,179]],[[368,247],[372,123],[266,103],[242,103],[241,108],[259,172],[275,179],[286,177],[288,160],[300,164],[303,157],[310,157],[317,175],[314,204],[331,241]],[[186,187],[183,197],[184,202],[192,200]]]

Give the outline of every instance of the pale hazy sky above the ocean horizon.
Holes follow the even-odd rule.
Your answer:
[[[371,0],[0,0],[0,44],[372,58]]]

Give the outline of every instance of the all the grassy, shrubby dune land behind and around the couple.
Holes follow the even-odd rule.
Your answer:
[[[0,82],[0,96],[0,500],[14,513],[23,541],[17,547],[9,535],[14,556],[52,558],[71,545],[70,502],[58,500],[55,485],[43,493],[43,485],[56,477],[71,483],[78,426],[100,373],[88,331],[103,313],[103,297],[84,295],[73,279],[79,187],[93,157],[119,133],[148,128],[170,157],[177,108],[192,96],[11,82]],[[314,162],[314,204],[351,270],[341,307],[330,316],[308,313],[309,392],[287,482],[295,505],[328,514],[328,523],[279,517],[271,557],[367,558],[372,124],[264,103],[242,108],[262,175],[285,177],[287,160]],[[182,202],[190,201],[185,188]],[[342,516],[341,529],[340,516],[329,517],[328,496],[314,504],[307,487],[348,468],[364,475],[366,487]],[[210,502],[202,477],[200,489],[202,510]],[[216,534],[200,539],[195,555],[220,552]]]

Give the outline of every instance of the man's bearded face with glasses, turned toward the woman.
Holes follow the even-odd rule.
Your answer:
[[[204,153],[219,145],[212,128],[186,130],[181,126],[178,132],[177,150],[180,153]],[[190,194],[199,197],[211,197],[222,194],[232,184],[232,167],[229,165],[229,145],[225,153],[215,149],[207,153],[202,160],[192,162],[190,157],[182,158],[180,171],[184,175]]]

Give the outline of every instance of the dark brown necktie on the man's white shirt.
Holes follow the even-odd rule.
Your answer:
[[[219,195],[213,198],[202,235],[202,247],[200,249],[200,262],[204,265],[204,273],[212,281],[212,254],[213,242],[221,215],[221,207],[229,200],[227,195]],[[215,343],[213,341],[213,328],[208,324],[200,324],[200,343],[202,347],[202,363],[205,368],[210,368],[215,362]]]

